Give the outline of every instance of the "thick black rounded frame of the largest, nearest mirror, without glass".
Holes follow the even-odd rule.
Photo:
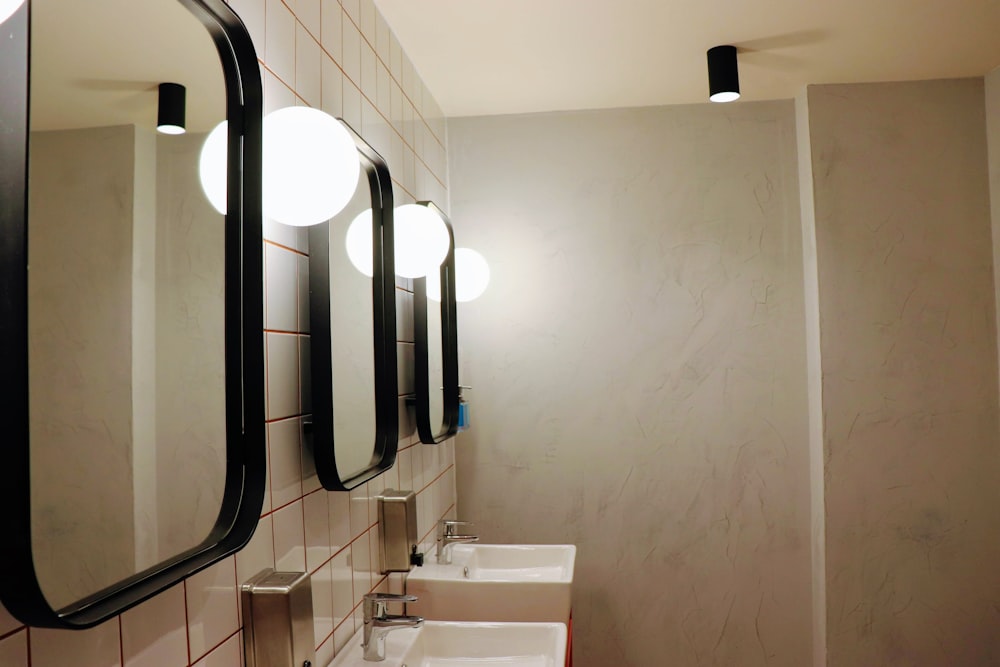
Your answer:
[[[0,25],[0,601],[36,627],[102,623],[238,551],[257,526],[265,492],[262,89],[250,35],[223,0],[177,0],[219,52],[229,128],[225,221],[226,482],[221,509],[196,547],[66,607],[45,598],[32,558],[28,412],[27,197],[30,4]]]

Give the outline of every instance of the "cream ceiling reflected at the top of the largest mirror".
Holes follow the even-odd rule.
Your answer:
[[[226,117],[211,35],[177,0],[32,0],[31,128],[156,127],[160,83],[187,87],[187,126]]]

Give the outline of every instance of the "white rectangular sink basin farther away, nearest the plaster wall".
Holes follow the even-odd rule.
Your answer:
[[[457,544],[452,563],[414,568],[411,614],[439,621],[569,621],[572,544]],[[412,666],[411,666],[412,667]]]

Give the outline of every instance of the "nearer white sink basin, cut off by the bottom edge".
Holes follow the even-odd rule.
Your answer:
[[[330,667],[563,667],[566,626],[561,623],[443,623],[386,635],[385,661],[365,662],[363,631]]]

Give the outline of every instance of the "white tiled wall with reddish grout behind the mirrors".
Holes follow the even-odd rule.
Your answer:
[[[343,117],[389,163],[397,204],[447,206],[444,118],[372,0],[231,0],[253,37],[265,112],[289,105]],[[265,567],[312,575],[317,664],[326,665],[360,627],[358,605],[401,580],[377,570],[374,497],[418,492],[424,548],[435,522],[454,512],[454,442],[425,447],[412,418],[401,427],[396,465],[351,493],[320,488],[303,455],[307,368],[308,244],[303,230],[265,222],[268,493],[257,531],[234,557],[97,628],[25,628],[0,608],[0,667],[238,667],[239,583]],[[412,362],[413,294],[397,286],[401,363]],[[412,383],[411,370],[400,378]],[[305,386],[308,386],[306,376]],[[400,393],[412,386],[400,386]],[[403,411],[405,414],[405,410]],[[374,564],[374,567],[373,567]]]

